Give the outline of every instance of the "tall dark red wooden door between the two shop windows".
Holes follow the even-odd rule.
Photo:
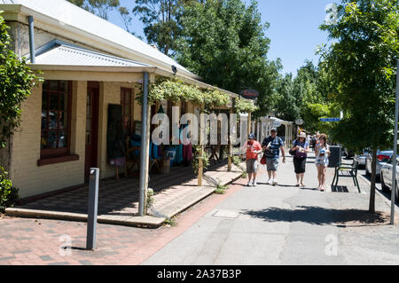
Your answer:
[[[89,177],[89,169],[97,167],[98,161],[98,93],[99,87],[89,83],[86,102],[86,153],[84,177]]]

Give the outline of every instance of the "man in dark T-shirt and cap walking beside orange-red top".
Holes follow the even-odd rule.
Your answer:
[[[276,171],[278,169],[280,150],[283,154],[283,163],[286,163],[286,152],[284,151],[284,142],[277,136],[277,130],[275,128],[270,130],[270,137],[263,139],[262,148],[266,150],[264,154],[266,156],[266,168],[269,176],[267,184],[277,185]]]

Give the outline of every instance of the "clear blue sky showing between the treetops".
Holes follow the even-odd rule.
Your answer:
[[[134,7],[134,0],[120,0],[121,5]],[[262,22],[269,22],[270,28],[266,35],[270,38],[269,59],[280,58],[283,64],[283,73],[293,73],[311,59],[316,64],[315,55],[317,45],[327,43],[327,34],[318,27],[325,20],[325,7],[332,4],[332,0],[259,0],[259,12]],[[249,3],[246,0],[246,3]],[[113,12],[110,21],[124,28],[120,16]],[[134,17],[131,29],[137,35],[143,35],[143,25]]]

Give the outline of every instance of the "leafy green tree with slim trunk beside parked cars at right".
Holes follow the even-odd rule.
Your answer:
[[[399,58],[397,0],[343,0],[336,23],[320,27],[337,41],[321,51],[345,117],[332,130],[341,144],[372,148],[369,210],[375,211],[377,149],[393,143],[395,72]]]

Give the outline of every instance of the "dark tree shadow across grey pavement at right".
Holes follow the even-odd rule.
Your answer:
[[[380,212],[361,209],[335,209],[299,206],[297,209],[265,208],[246,210],[243,214],[267,222],[304,222],[308,224],[389,224],[389,217]]]

